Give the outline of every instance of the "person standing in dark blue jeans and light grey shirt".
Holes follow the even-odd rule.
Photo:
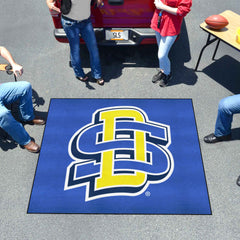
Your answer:
[[[49,9],[61,13],[61,10],[55,6],[55,0],[46,0]],[[102,78],[101,64],[97,41],[90,19],[90,3],[91,0],[71,0],[72,6],[68,14],[63,14],[61,23],[70,46],[70,60],[75,76],[81,81],[87,81],[81,66],[80,58],[80,36],[86,43],[90,55],[90,65],[92,77],[99,85],[104,84]],[[102,0],[96,0],[97,6],[102,3]]]

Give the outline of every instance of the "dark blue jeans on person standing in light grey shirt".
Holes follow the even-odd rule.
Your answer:
[[[74,21],[66,20],[62,17],[61,22],[69,41],[71,63],[76,77],[85,77],[80,58],[81,35],[89,51],[92,76],[95,79],[101,78],[99,52],[90,18],[83,21]]]

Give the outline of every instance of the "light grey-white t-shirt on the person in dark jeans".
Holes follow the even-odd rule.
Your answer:
[[[88,19],[91,14],[91,0],[72,0],[72,8],[70,13],[64,15],[76,21]]]

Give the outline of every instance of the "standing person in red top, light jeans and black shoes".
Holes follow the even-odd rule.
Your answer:
[[[156,32],[159,71],[152,82],[165,87],[172,78],[168,53],[180,34],[183,18],[190,12],[192,0],[155,0],[151,28]]]

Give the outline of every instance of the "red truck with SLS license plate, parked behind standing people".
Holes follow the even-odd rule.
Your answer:
[[[56,1],[60,7],[61,0]],[[150,28],[153,0],[105,0],[100,8],[92,6],[92,23],[99,45],[139,45],[156,43]],[[61,14],[50,11],[59,42],[67,42]]]

